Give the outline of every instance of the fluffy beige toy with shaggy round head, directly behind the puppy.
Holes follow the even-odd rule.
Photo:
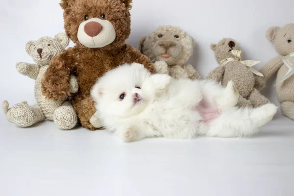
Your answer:
[[[194,41],[184,30],[175,26],[160,26],[140,40],[140,51],[153,63],[157,73],[170,74],[176,79],[201,80],[191,64]]]

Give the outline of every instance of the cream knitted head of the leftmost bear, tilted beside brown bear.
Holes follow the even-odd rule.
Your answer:
[[[49,65],[49,62],[64,50],[69,42],[65,33],[59,33],[54,38],[42,37],[37,41],[29,41],[25,50],[38,65]]]

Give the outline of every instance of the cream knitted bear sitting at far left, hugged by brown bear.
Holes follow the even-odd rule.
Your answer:
[[[26,52],[37,64],[18,63],[16,69],[19,73],[36,80],[37,104],[31,106],[24,101],[9,109],[8,101],[3,101],[2,109],[8,121],[21,127],[29,127],[48,118],[64,130],[71,129],[77,124],[76,112],[69,101],[49,100],[41,92],[41,81],[49,67],[49,62],[68,45],[69,39],[65,33],[59,33],[54,38],[42,37],[38,41],[30,41],[26,44]],[[71,76],[71,92],[77,91],[77,80],[75,76]]]

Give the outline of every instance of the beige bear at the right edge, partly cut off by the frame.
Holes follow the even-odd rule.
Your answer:
[[[267,39],[273,43],[279,56],[271,59],[260,72],[266,81],[277,73],[275,87],[282,113],[294,120],[294,24],[271,27]]]

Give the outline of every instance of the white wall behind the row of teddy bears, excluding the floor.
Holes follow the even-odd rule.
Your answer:
[[[25,52],[27,41],[63,31],[59,0],[0,1],[0,100],[35,103],[34,81],[17,73],[15,65],[32,62]],[[265,38],[267,29],[294,23],[293,7],[293,0],[134,0],[132,33],[127,43],[138,47],[139,39],[158,25],[178,25],[195,38],[190,62],[202,76],[218,66],[210,44],[223,37],[242,44],[244,59],[262,61],[256,66],[259,69],[277,55]],[[277,103],[272,81],[265,95]]]

